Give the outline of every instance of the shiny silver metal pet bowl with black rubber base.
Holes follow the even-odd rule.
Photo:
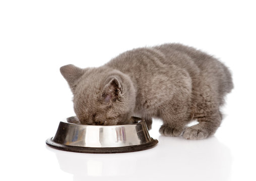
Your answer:
[[[115,126],[74,124],[72,118],[60,121],[55,136],[46,140],[47,145],[73,152],[121,153],[149,149],[158,143],[141,118],[132,117],[132,124]]]

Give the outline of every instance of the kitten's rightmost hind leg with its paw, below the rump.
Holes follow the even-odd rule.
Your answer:
[[[183,138],[191,140],[205,139],[215,133],[221,123],[221,113],[215,111],[211,116],[198,116],[199,124],[188,127],[183,132]]]

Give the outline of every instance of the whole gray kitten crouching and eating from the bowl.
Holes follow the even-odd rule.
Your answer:
[[[221,124],[219,110],[233,88],[228,68],[202,51],[163,44],[126,51],[103,66],[65,65],[81,124],[127,124],[131,116],[163,120],[160,133],[204,139]],[[191,120],[199,124],[186,127]]]

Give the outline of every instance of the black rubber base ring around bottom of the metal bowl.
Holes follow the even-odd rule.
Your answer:
[[[141,144],[141,145],[132,145],[132,146],[122,146],[122,147],[82,147],[82,146],[69,146],[62,145],[52,141],[52,138],[46,140],[46,144],[52,148],[64,151],[72,151],[79,153],[125,153],[125,152],[134,152],[134,151],[142,151],[146,149],[153,148],[157,145],[158,140],[153,139],[149,143]]]

